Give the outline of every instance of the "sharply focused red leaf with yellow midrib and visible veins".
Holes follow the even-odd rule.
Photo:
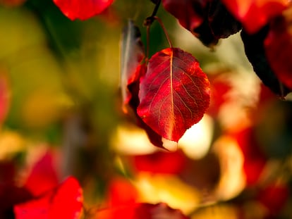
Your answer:
[[[209,80],[191,54],[168,48],[150,58],[139,97],[140,118],[162,137],[178,142],[209,106]]]

